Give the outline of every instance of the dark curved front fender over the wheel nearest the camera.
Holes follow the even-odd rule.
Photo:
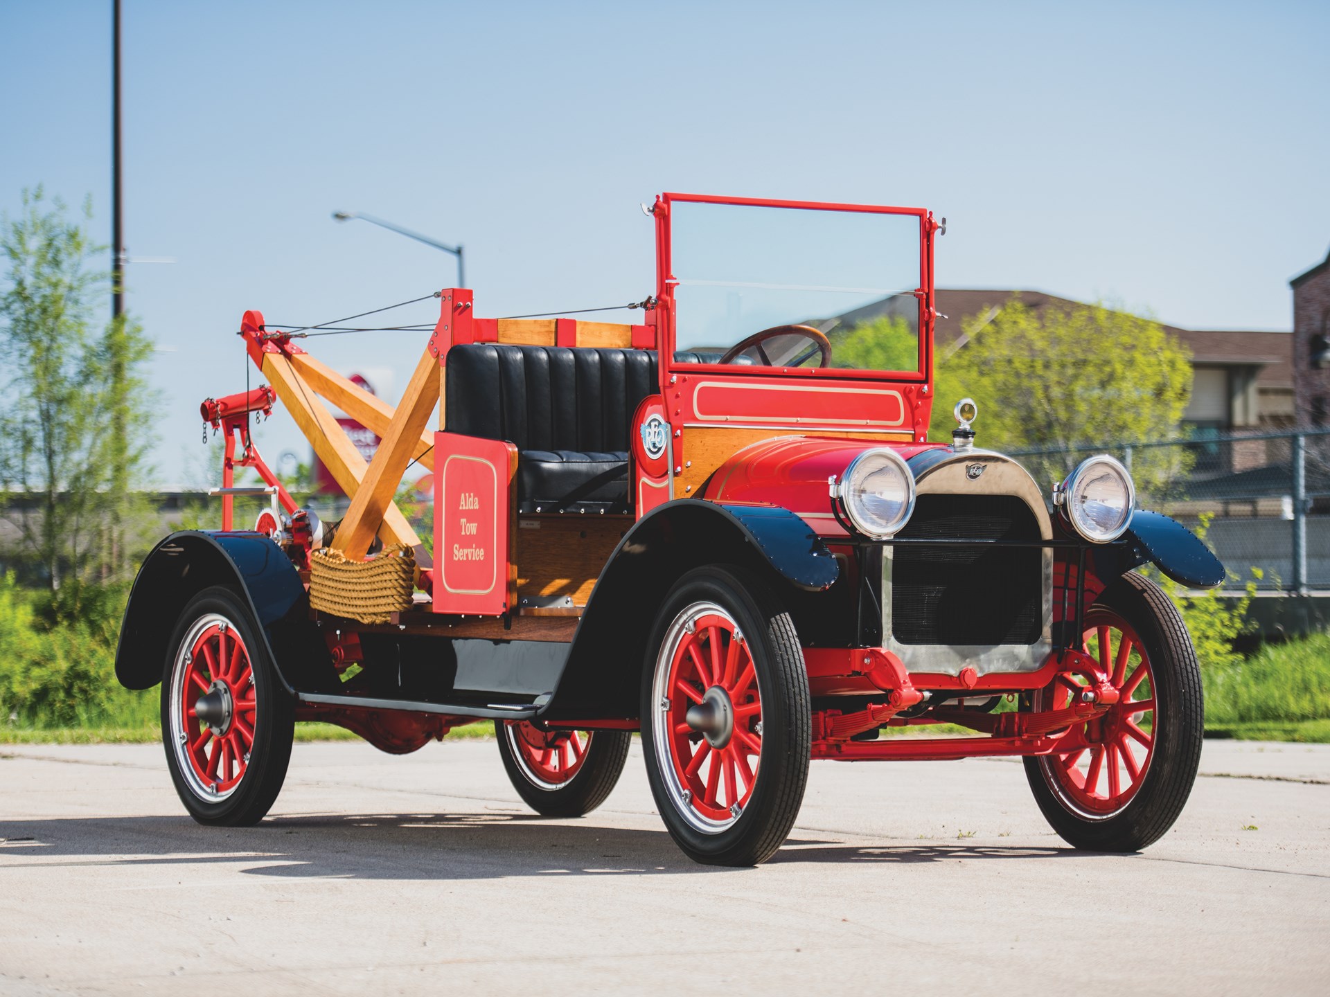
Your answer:
[[[738,564],[774,586],[829,589],[841,568],[798,514],[774,505],[678,498],[624,536],[583,610],[553,698],[540,719],[637,717],[646,639],[665,594],[685,572]]]

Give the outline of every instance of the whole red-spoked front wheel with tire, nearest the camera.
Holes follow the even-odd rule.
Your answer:
[[[676,844],[713,865],[770,859],[803,802],[813,724],[794,622],[761,577],[708,566],[678,581],[648,642],[641,720]]]

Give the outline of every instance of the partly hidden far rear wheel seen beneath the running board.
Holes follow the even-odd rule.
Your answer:
[[[580,818],[613,791],[633,735],[495,720],[495,736],[508,779],[528,807],[547,818]]]

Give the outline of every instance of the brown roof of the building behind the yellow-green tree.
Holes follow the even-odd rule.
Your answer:
[[[1330,259],[1322,266],[1330,266]],[[1307,271],[1309,274],[1311,271]],[[968,290],[943,288],[936,292],[938,324],[935,326],[935,340],[939,351],[955,343],[962,335],[962,320],[975,315],[986,315],[990,311],[1000,310],[1012,296],[1035,311],[1057,304],[1063,307],[1076,307],[1081,302],[1069,298],[1057,298],[1043,291],[1019,290]],[[994,316],[996,318],[996,311]],[[1286,388],[1293,389],[1293,336],[1289,332],[1246,331],[1246,330],[1192,330],[1177,326],[1164,326],[1165,331],[1177,336],[1193,354],[1196,364],[1222,364],[1234,367],[1250,364],[1261,367],[1257,375],[1260,388]]]

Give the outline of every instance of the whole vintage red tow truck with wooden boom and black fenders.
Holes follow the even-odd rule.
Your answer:
[[[1134,509],[1112,457],[1049,491],[975,445],[968,400],[927,440],[944,223],[692,194],[649,213],[641,324],[485,319],[443,290],[395,408],[245,314],[269,386],[203,409],[226,431],[223,529],[148,556],[116,662],[125,686],[162,686],[188,811],[261,820],[299,720],[390,752],[492,720],[551,816],[598,806],[641,731],[661,816],[704,863],[770,857],[811,759],[1016,755],[1071,844],[1160,837],[1196,776],[1201,683],[1133,569],[1208,586],[1224,568]],[[383,437],[368,464],[321,399]],[[351,497],[335,530],[249,439],[277,400]],[[392,502],[411,463],[434,472],[432,564]],[[255,530],[231,529],[241,465],[275,496]],[[406,605],[311,606],[311,561],[368,565],[379,542],[415,554]],[[975,734],[879,736],[939,723]]]

